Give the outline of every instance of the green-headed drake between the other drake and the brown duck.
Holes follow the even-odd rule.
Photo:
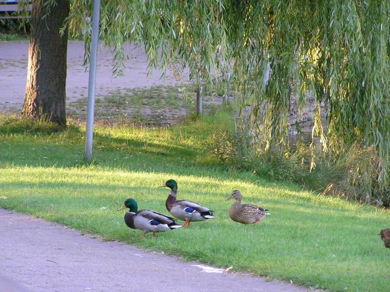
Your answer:
[[[187,200],[177,201],[177,183],[175,180],[169,180],[159,187],[164,186],[171,189],[171,193],[169,194],[167,201],[165,201],[165,206],[167,207],[168,212],[174,217],[185,221],[182,226],[190,227],[190,224],[193,221],[204,221],[216,217],[213,215],[214,211],[211,211],[201,204]]]

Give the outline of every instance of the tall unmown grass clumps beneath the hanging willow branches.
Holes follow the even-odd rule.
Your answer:
[[[390,193],[378,184],[379,156],[374,147],[351,142],[338,151],[320,151],[310,144],[262,151],[248,133],[246,126],[219,132],[204,162],[253,171],[347,200],[389,206]]]

